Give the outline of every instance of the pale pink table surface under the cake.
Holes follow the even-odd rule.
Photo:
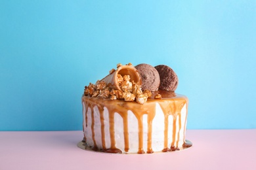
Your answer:
[[[256,169],[256,129],[187,130],[192,148],[158,154],[82,150],[82,131],[0,131],[0,169]]]

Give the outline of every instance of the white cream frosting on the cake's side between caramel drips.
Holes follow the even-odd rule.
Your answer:
[[[167,145],[171,147],[171,144],[174,142],[174,146],[176,148],[181,148],[185,139],[185,131],[186,131],[186,110],[185,103],[181,109],[180,114],[169,114],[168,115],[168,133]],[[94,147],[95,143],[97,148],[102,149],[102,124],[100,121],[100,111],[98,107],[95,105],[93,107],[93,114],[91,108],[85,109],[85,103],[83,102],[83,131],[86,139],[86,143],[89,146]],[[92,118],[92,115],[94,118]],[[160,105],[156,102],[156,115],[152,121],[152,150],[154,152],[161,152],[164,147],[164,139],[165,139],[165,115]],[[87,125],[85,122],[85,116],[87,116]],[[106,107],[104,107],[104,144],[106,148],[110,148],[111,139],[110,139],[110,119],[109,112]],[[92,121],[94,119],[94,121]],[[176,119],[176,121],[173,121]],[[129,151],[127,153],[137,153],[139,148],[139,120],[135,116],[132,110],[128,110],[127,112],[127,120],[128,120],[128,134],[129,134]],[[176,125],[173,125],[173,122]],[[142,116],[142,124],[143,124],[143,150],[147,150],[148,147],[148,114],[144,114]],[[173,127],[176,128],[175,137],[173,137]],[[94,137],[93,137],[94,133]],[[114,113],[114,137],[116,141],[116,148],[119,148],[123,153],[125,152],[125,140],[124,140],[124,125],[123,118],[120,116],[118,112]],[[93,141],[95,140],[95,142]],[[175,141],[173,141],[175,140]]]

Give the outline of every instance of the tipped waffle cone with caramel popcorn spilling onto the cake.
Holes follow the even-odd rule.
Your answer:
[[[85,86],[84,95],[111,100],[137,101],[144,104],[152,93],[147,89],[142,92],[141,84],[140,74],[131,63],[117,64],[117,70],[112,69],[108,76],[98,80],[96,84],[90,83],[89,86]]]

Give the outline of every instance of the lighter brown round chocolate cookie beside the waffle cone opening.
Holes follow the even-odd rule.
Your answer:
[[[146,63],[136,65],[135,68],[139,71],[142,79],[142,90],[156,91],[160,86],[160,76],[158,71]]]

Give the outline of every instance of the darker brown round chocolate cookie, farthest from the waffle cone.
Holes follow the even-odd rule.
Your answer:
[[[158,65],[155,67],[160,75],[160,90],[168,90],[175,92],[178,86],[178,76],[176,73],[167,65]]]

